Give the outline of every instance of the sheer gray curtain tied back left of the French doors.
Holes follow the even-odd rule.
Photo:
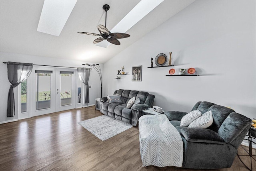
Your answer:
[[[22,81],[28,78],[32,71],[32,68],[32,63],[7,63],[8,79],[12,84],[8,93],[7,117],[13,117],[15,115],[13,88],[18,86],[20,83],[22,83]]]

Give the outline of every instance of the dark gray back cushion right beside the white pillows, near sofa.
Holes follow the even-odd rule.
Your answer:
[[[212,110],[213,122],[212,125],[208,127],[208,129],[213,130],[215,132],[219,130],[221,124],[228,117],[228,115],[232,112],[235,112],[233,109],[220,106],[217,104],[211,106],[209,110]]]

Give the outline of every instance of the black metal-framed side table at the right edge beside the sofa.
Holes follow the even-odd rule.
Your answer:
[[[254,134],[252,134],[252,130],[253,128],[250,128],[249,131],[248,131],[248,134],[246,136],[248,136],[248,139],[244,139],[244,140],[248,140],[248,144],[249,144],[249,152],[241,145],[241,147],[248,153],[248,155],[239,155],[237,154],[238,158],[240,159],[240,161],[243,163],[243,165],[249,169],[250,171],[252,171],[252,162],[255,162],[256,160],[254,159],[254,157],[252,156],[256,156],[256,155],[252,155],[252,143],[256,144],[255,142],[252,141],[252,139],[255,139],[256,140],[256,137],[254,137]],[[253,136],[252,136],[253,135]],[[250,165],[250,168],[244,164],[244,162],[242,161],[242,159],[240,158],[240,156],[250,156],[250,162],[251,162],[251,165]]]

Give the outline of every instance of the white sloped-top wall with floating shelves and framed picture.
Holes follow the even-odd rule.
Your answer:
[[[209,101],[256,118],[255,8],[255,1],[244,0],[192,3],[104,63],[103,95],[143,90],[167,111],[189,112],[196,102]],[[169,57],[171,51],[175,67],[147,68],[151,57]],[[131,81],[137,65],[142,65],[142,82]],[[114,80],[122,66],[129,75]],[[171,68],[178,73],[190,67],[200,76],[165,76]]]

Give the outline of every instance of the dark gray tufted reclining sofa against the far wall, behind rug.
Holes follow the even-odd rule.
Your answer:
[[[122,102],[109,103],[107,102],[107,97],[102,97],[100,98],[100,112],[133,126],[138,125],[138,119],[142,115],[142,110],[152,107],[155,98],[153,94],[136,90],[119,89],[114,94],[121,95]],[[128,101],[133,97],[136,97],[136,99],[140,98],[140,104],[126,108]]]

